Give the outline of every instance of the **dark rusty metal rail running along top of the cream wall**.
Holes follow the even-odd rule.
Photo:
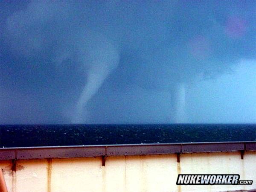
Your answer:
[[[256,151],[256,141],[0,148],[0,160]]]

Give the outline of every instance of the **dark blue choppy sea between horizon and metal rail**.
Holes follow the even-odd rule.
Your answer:
[[[256,124],[0,125],[0,147],[256,141]]]

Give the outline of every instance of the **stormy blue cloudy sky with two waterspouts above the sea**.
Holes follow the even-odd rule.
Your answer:
[[[0,124],[256,123],[256,1],[1,1]]]

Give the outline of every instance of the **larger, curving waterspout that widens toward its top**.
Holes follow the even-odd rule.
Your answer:
[[[109,73],[116,68],[119,62],[119,53],[109,42],[93,42],[93,45],[90,45],[90,50],[88,47],[86,49],[89,54],[81,56],[80,59],[85,66],[89,66],[87,81],[76,103],[75,113],[72,115],[73,123],[86,122],[86,118],[89,116],[86,110],[87,102],[97,93]]]

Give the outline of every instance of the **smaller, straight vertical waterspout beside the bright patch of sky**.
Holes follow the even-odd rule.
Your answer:
[[[186,89],[184,83],[179,83],[175,93],[175,123],[186,122]]]

